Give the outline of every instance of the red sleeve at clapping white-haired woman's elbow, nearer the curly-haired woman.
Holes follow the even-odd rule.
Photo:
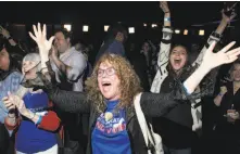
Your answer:
[[[41,123],[38,125],[38,128],[55,131],[59,129],[61,120],[53,111],[49,111],[41,119]]]

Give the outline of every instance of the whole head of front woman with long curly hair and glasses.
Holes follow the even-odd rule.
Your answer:
[[[119,107],[126,107],[141,91],[140,80],[131,65],[124,57],[115,54],[101,56],[86,86],[88,98],[100,111],[104,110],[105,100],[119,100]]]

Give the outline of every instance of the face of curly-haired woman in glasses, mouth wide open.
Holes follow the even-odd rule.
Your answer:
[[[106,100],[114,101],[121,98],[121,80],[116,75],[116,70],[109,62],[100,64],[98,70],[98,85],[102,95]]]

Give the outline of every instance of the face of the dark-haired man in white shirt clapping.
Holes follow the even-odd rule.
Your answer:
[[[60,53],[68,49],[70,39],[66,39],[62,31],[55,33],[54,46]]]

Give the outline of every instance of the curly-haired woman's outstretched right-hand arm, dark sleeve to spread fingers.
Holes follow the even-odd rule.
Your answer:
[[[169,107],[175,106],[177,102],[175,100],[181,99],[181,93],[191,94],[198,87],[203,77],[213,68],[231,63],[238,59],[240,54],[240,48],[228,51],[235,42],[229,43],[217,53],[213,53],[213,49],[216,42],[213,42],[206,50],[202,64],[195,72],[182,84],[182,87],[172,93],[143,93],[141,97],[142,112],[147,116],[162,116]],[[181,91],[185,90],[185,92]],[[187,97],[187,95],[186,95]],[[168,104],[166,104],[168,103]]]

